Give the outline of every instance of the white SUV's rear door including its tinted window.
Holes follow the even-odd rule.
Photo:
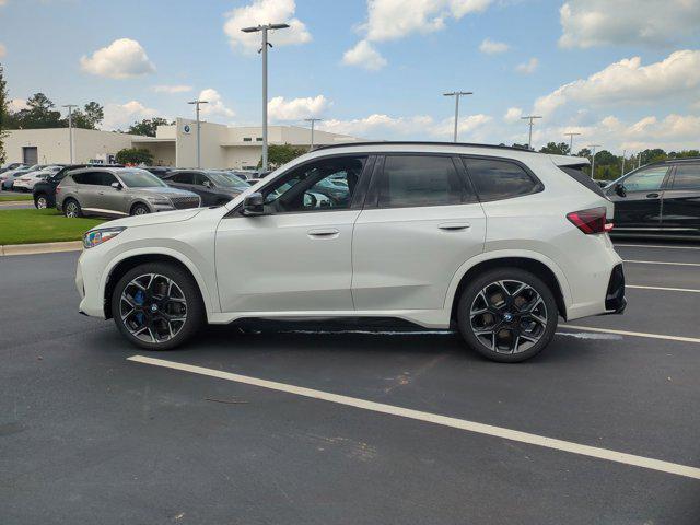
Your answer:
[[[458,158],[387,154],[352,237],[358,311],[440,310],[457,269],[483,250],[486,218]]]

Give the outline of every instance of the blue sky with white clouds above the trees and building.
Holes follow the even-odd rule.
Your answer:
[[[616,153],[700,148],[700,0],[0,0],[12,107],[43,92],[142,118],[272,124],[368,139],[568,141]]]

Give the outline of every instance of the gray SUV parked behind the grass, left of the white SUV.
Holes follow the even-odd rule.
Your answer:
[[[66,217],[142,215],[200,205],[197,194],[171,188],[145,170],[132,167],[75,170],[56,188],[56,208]]]

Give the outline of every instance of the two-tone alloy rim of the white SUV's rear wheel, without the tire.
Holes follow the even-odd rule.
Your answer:
[[[477,340],[498,353],[514,354],[533,348],[545,335],[547,319],[547,306],[540,294],[516,280],[487,284],[469,311]]]

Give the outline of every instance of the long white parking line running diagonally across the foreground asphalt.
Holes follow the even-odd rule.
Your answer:
[[[504,440],[517,441],[520,443],[527,443],[530,445],[542,446],[542,447],[552,448],[556,451],[563,451],[572,454],[580,454],[583,456],[595,457],[598,459],[606,459],[608,462],[621,463],[625,465],[632,465],[635,467],[648,468],[648,469],[657,470],[661,472],[673,474],[676,476],[684,476],[687,478],[700,479],[700,468],[679,465],[676,463],[662,462],[661,459],[653,459],[651,457],[635,456],[632,454],[610,451],[607,448],[598,448],[596,446],[582,445],[579,443],[573,443],[571,441],[556,440],[552,438],[546,438],[544,435],[530,434],[527,432],[505,429],[502,427],[493,427],[490,424],[478,423],[476,421],[467,421],[465,419],[450,418],[446,416],[440,416],[438,413],[423,412],[420,410],[412,410],[410,408],[402,408],[394,405],[385,405],[383,402],[369,401],[366,399],[360,399],[357,397],[341,396],[339,394],[331,394],[328,392],[315,390],[315,389],[305,388],[302,386],[288,385],[285,383],[278,383],[275,381],[267,381],[267,380],[260,380],[257,377],[249,377],[246,375],[233,374],[231,372],[222,372],[220,370],[206,369],[203,366],[195,366],[191,364],[177,363],[174,361],[165,361],[163,359],[147,358],[144,355],[132,355],[127,359],[129,361],[136,361],[138,363],[151,364],[154,366],[163,366],[166,369],[179,370],[183,372],[190,372],[192,374],[207,375],[210,377],[218,377],[226,381],[234,381],[236,383],[259,386],[262,388],[269,388],[271,390],[284,392],[284,393],[293,394],[296,396],[308,397],[312,399],[320,399],[324,401],[336,402],[339,405],[361,408],[361,409],[371,410],[374,412],[399,416],[401,418],[415,419],[418,421],[424,421],[433,424],[441,424],[443,427],[451,427],[453,429],[466,430],[468,432],[475,432],[478,434],[491,435],[491,436],[501,438]]]

